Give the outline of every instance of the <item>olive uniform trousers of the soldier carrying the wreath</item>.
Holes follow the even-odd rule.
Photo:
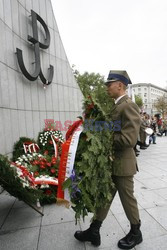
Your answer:
[[[125,214],[131,224],[139,223],[139,210],[137,200],[134,197],[134,180],[133,176],[112,176],[115,189],[112,190],[112,200],[109,205],[104,206],[96,211],[95,219],[103,221],[110,209],[111,203],[118,191]]]

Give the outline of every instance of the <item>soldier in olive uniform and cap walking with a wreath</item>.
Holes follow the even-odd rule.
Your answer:
[[[143,240],[139,210],[133,195],[133,176],[138,170],[133,148],[137,142],[141,118],[138,106],[126,95],[126,88],[128,84],[131,84],[126,71],[110,71],[105,84],[108,94],[115,100],[112,119],[121,121],[121,130],[114,132],[115,158],[112,166],[112,179],[115,190],[112,191],[112,196],[114,198],[118,191],[131,226],[129,233],[119,240],[118,247],[132,249]],[[90,241],[93,245],[99,246],[101,243],[100,227],[108,214],[110,205],[104,204],[104,207],[96,212],[96,217],[93,218],[90,227],[85,231],[76,231],[74,237],[79,241]]]

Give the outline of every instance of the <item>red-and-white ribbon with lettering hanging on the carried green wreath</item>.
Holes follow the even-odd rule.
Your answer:
[[[72,126],[67,131],[66,141],[62,144],[57,191],[57,199],[59,201],[70,201],[68,189],[63,190],[62,184],[72,175],[79,137],[81,132],[83,131],[82,123],[83,120],[79,120],[72,124]]]

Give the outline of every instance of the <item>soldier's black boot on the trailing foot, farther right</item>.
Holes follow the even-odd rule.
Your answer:
[[[121,240],[118,241],[118,247],[121,249],[132,249],[143,241],[140,231],[140,223],[131,225],[130,232]]]

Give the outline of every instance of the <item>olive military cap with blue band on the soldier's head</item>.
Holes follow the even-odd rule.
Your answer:
[[[107,81],[105,85],[108,85],[110,82],[120,81],[126,86],[132,84],[128,73],[125,70],[110,70]]]

